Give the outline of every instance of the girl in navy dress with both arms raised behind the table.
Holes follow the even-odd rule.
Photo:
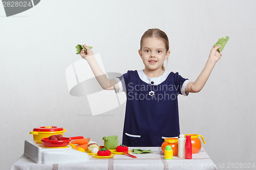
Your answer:
[[[197,80],[189,81],[178,72],[165,71],[163,62],[170,54],[168,37],[159,29],[148,29],[141,37],[139,49],[145,68],[129,70],[109,80],[92,50],[83,46],[87,51],[82,50],[80,55],[88,61],[101,87],[126,93],[122,143],[128,147],[160,147],[165,137],[179,136],[178,94],[199,92],[222,56],[218,50],[220,45],[213,46]]]

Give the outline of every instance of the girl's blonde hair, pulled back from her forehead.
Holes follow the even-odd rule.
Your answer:
[[[162,39],[164,44],[165,44],[166,52],[169,50],[169,40],[168,40],[168,37],[165,34],[165,32],[163,32],[162,30],[159,30],[159,29],[148,29],[147,31],[144,32],[144,34],[142,35],[142,37],[140,39],[140,50],[142,50],[143,39],[144,38],[152,38],[152,37],[156,37],[156,38]],[[168,63],[168,58],[167,58],[167,63]],[[165,71],[165,67],[163,65],[162,65],[162,70]]]

